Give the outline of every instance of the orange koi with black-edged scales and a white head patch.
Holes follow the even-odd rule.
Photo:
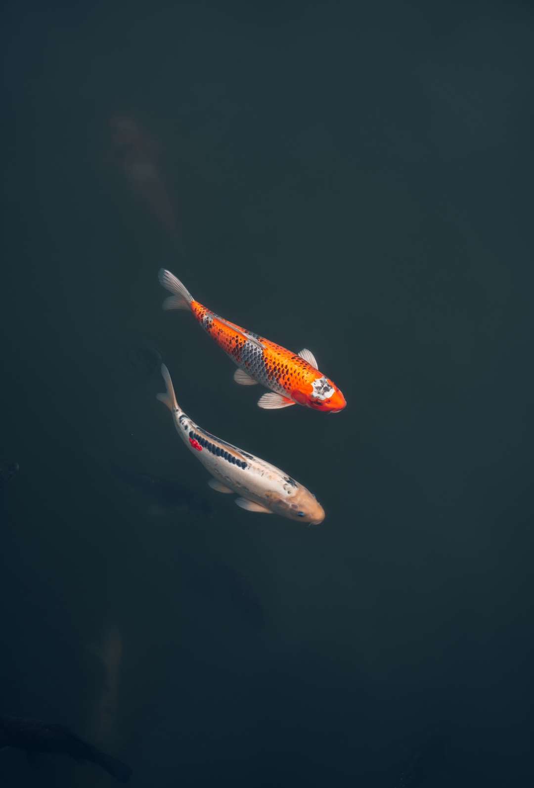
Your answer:
[[[161,269],[159,281],[174,295],[163,302],[164,309],[191,309],[202,328],[239,366],[234,380],[243,386],[261,383],[273,393],[258,400],[259,407],[276,409],[304,405],[314,411],[339,413],[346,406],[345,398],[335,383],[319,372],[317,361],[309,350],[292,353],[264,336],[243,329],[215,314],[195,301],[179,279]]]

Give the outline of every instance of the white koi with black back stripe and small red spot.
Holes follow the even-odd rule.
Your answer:
[[[189,418],[176,402],[169,370],[161,365],[165,394],[158,394],[172,413],[174,426],[184,444],[206,467],[208,482],[217,492],[237,492],[235,503],[247,511],[281,515],[317,526],[324,520],[324,509],[310,490],[287,476],[283,470],[265,463],[243,449],[217,438]]]

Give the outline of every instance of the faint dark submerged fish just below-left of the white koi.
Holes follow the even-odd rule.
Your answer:
[[[150,500],[152,505],[149,513],[152,515],[170,515],[180,510],[210,515],[213,511],[207,496],[202,496],[179,481],[150,476],[122,466],[113,466],[112,470],[117,478]]]

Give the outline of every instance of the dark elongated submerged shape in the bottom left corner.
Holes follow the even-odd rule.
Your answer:
[[[132,769],[121,760],[83,742],[63,725],[0,716],[0,749],[2,747],[24,749],[29,756],[33,753],[57,753],[79,762],[90,760],[119,782],[128,782],[132,775]]]

